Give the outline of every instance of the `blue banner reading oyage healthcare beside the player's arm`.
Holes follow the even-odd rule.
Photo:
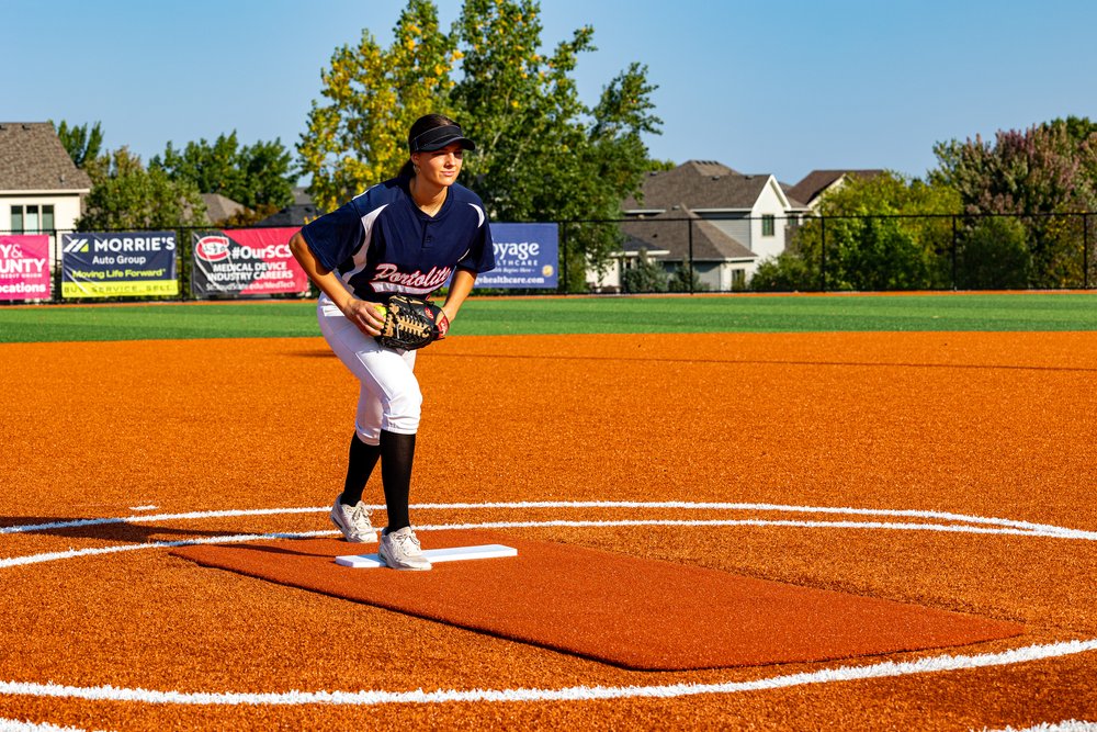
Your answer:
[[[491,224],[495,269],[476,278],[477,288],[556,286],[559,244],[556,224]]]

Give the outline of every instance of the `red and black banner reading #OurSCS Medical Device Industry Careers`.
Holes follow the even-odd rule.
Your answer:
[[[290,252],[297,227],[194,233],[191,294],[195,297],[308,291],[308,275]]]

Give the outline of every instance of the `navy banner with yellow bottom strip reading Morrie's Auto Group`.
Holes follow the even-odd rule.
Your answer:
[[[61,297],[178,295],[174,232],[61,236]]]

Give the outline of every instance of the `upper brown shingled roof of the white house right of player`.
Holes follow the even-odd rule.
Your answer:
[[[740,173],[715,160],[690,160],[674,170],[648,173],[643,196],[630,196],[621,205],[624,211],[667,211],[686,201],[694,210],[750,209],[769,179],[768,173]]]

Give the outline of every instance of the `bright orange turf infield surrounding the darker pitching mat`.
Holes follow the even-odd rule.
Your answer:
[[[332,538],[357,387],[320,339],[10,345],[0,362],[0,720],[1097,720],[1093,334],[431,346],[412,481],[426,548],[431,531],[486,529],[1022,628],[686,672],[627,671],[171,555],[227,537]],[[366,499],[381,502],[376,478]],[[674,624],[675,600],[631,621]]]

